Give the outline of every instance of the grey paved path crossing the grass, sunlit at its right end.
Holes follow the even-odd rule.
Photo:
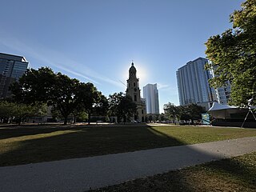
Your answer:
[[[78,191],[256,151],[256,137],[0,167],[0,191]]]

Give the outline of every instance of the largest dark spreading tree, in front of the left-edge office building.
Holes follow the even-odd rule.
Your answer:
[[[69,78],[65,74],[54,74],[48,67],[38,70],[30,69],[11,86],[15,102],[27,104],[47,102],[53,106],[53,110],[58,110],[64,118],[67,118],[79,106],[81,98],[78,94],[79,81]]]

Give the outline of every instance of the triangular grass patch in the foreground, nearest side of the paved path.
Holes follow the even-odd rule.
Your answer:
[[[256,153],[138,178],[93,191],[256,191]]]

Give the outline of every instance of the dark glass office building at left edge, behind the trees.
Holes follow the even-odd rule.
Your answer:
[[[8,98],[9,86],[26,72],[28,62],[22,56],[0,53],[0,98]]]

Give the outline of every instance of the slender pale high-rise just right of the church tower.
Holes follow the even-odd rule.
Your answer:
[[[157,84],[147,84],[143,87],[143,98],[146,99],[146,113],[159,114],[159,99]]]

